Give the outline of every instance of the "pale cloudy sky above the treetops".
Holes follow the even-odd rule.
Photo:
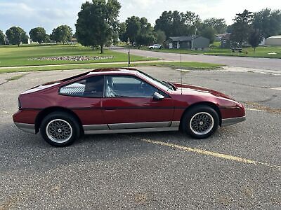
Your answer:
[[[44,27],[48,34],[59,25],[70,25],[74,29],[77,13],[84,0],[0,0],[0,30],[19,26],[27,34],[34,27]],[[225,18],[232,24],[236,13],[244,9],[252,12],[263,8],[281,9],[280,0],[119,0],[122,8],[119,20],[132,15],[148,18],[155,25],[164,10],[190,10],[206,18]]]

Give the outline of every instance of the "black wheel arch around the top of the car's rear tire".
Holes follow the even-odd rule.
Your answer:
[[[50,113],[53,113],[55,111],[60,111],[60,112],[63,112],[63,113],[68,113],[70,115],[72,115],[76,120],[77,122],[79,123],[79,128],[80,128],[80,131],[82,133],[84,133],[84,129],[82,127],[82,123],[81,123],[81,120],[79,119],[79,117],[77,116],[76,113],[74,113],[74,111],[70,110],[70,109],[67,109],[67,108],[64,108],[64,107],[61,107],[61,106],[52,106],[52,107],[48,107],[46,109],[43,109],[42,111],[40,111],[37,115],[37,117],[35,118],[35,133],[38,133],[39,130],[40,130],[40,126],[41,126],[41,123],[42,123],[42,120]]]

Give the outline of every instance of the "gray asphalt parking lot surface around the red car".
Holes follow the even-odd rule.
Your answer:
[[[176,69],[140,67],[180,81]],[[100,134],[67,148],[18,130],[18,94],[81,73],[0,74],[0,209],[281,209],[281,73],[182,73],[230,94],[247,121],[209,139],[180,132]],[[21,75],[17,80],[7,81]]]

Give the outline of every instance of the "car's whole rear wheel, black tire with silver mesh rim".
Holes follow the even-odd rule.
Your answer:
[[[70,146],[79,138],[80,128],[79,123],[72,115],[56,111],[48,114],[42,120],[40,133],[48,144],[63,147]]]

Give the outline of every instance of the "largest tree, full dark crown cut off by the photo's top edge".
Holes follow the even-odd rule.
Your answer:
[[[93,0],[92,3],[83,3],[75,25],[77,41],[85,46],[100,45],[100,52],[103,53],[105,43],[110,41],[117,31],[120,8],[117,0]]]

